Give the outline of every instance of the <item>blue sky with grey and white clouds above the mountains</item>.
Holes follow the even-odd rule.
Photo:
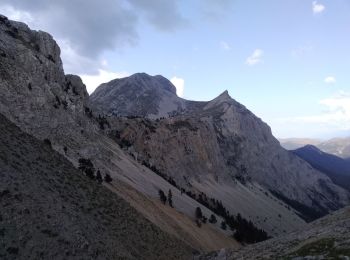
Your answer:
[[[349,0],[0,0],[47,31],[89,93],[137,72],[232,98],[278,138],[350,136]]]

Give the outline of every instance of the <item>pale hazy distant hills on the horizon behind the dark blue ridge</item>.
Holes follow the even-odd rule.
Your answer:
[[[332,138],[327,141],[311,138],[279,139],[280,144],[287,150],[294,150],[311,144],[323,152],[334,154],[344,159],[350,159],[350,137]]]

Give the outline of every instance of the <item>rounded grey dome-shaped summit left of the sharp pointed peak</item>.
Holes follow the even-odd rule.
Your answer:
[[[102,84],[90,96],[91,107],[100,113],[121,116],[165,117],[186,108],[174,85],[162,76],[137,73]]]

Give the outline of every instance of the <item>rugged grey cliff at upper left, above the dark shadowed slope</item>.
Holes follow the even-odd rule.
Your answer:
[[[86,88],[64,74],[51,35],[0,16],[0,38],[1,113],[41,139],[93,127],[84,118]]]

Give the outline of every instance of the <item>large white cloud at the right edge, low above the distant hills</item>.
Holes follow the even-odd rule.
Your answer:
[[[283,123],[316,124],[319,127],[335,131],[350,130],[350,93],[340,91],[335,95],[322,99],[323,113],[318,115],[280,118]]]

